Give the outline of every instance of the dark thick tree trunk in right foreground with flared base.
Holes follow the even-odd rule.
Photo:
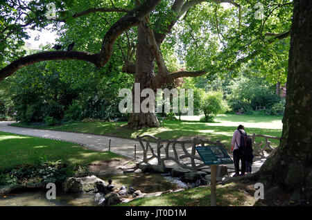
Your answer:
[[[257,174],[264,199],[283,205],[312,203],[311,39],[312,1],[295,1],[281,144]]]

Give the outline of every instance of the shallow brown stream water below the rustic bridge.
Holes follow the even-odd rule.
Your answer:
[[[168,178],[160,174],[123,174],[117,176],[105,176],[99,178],[107,183],[108,178],[112,178],[114,189],[119,190],[121,185],[132,185],[135,190],[144,193],[163,192],[166,190],[177,190],[182,187],[182,183],[175,178]],[[185,184],[185,183],[184,183]],[[0,195],[0,206],[94,206],[98,205],[95,201],[95,193],[92,194],[67,194],[58,190],[56,199],[46,199],[44,189],[23,189],[15,190],[10,194]]]

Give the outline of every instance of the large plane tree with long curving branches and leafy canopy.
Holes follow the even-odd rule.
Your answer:
[[[48,3],[55,4],[52,19],[46,17]],[[78,59],[101,68],[116,51],[123,72],[134,74],[141,90],[156,91],[179,77],[235,75],[250,61],[271,66],[271,75],[286,75],[292,7],[286,0],[7,1],[1,5],[0,80],[51,59]],[[76,40],[74,50],[24,56],[19,48],[27,28],[49,24]],[[130,114],[130,129],[157,126],[155,113]]]

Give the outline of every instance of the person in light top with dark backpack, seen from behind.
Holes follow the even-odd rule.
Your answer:
[[[234,176],[243,176],[246,171],[246,157],[248,158],[248,172],[251,172],[250,154],[252,154],[252,139],[245,132],[245,127],[239,125],[233,134],[232,151],[235,167]],[[241,161],[241,174],[239,174],[239,161]]]

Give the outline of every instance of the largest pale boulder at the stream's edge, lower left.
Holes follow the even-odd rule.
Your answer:
[[[96,176],[81,177],[69,177],[63,183],[64,192],[95,192],[97,190],[96,185],[99,183],[105,183],[101,178]]]

